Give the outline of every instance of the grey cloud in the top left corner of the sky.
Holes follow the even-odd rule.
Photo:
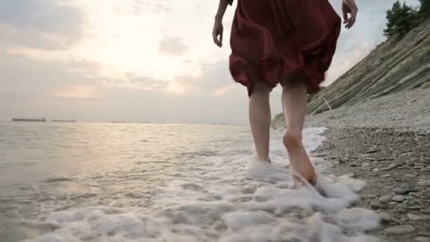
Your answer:
[[[83,13],[50,0],[1,1],[1,45],[62,49],[80,40]]]

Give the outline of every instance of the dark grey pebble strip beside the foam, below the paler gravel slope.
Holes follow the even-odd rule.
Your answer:
[[[354,207],[382,218],[385,241],[430,241],[430,134],[382,127],[328,127],[313,154],[334,175],[366,182]]]

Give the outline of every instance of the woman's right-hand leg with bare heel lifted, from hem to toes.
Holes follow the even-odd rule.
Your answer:
[[[303,81],[289,81],[282,88],[282,108],[286,121],[284,145],[290,166],[303,178],[313,183],[315,169],[302,144],[302,129],[306,116],[306,85]]]

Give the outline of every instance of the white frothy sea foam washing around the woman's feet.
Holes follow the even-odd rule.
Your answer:
[[[323,142],[323,131],[305,130],[308,151]],[[272,164],[245,154],[195,157],[178,167],[177,180],[151,191],[151,212],[101,206],[52,212],[36,222],[50,229],[31,241],[378,241],[365,234],[378,226],[378,215],[349,208],[364,183],[325,174],[325,161],[313,158],[327,197],[293,189],[281,135],[272,134]]]

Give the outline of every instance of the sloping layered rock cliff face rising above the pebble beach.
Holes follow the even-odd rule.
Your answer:
[[[313,95],[308,100],[308,113],[328,110],[324,98],[332,108],[339,108],[427,85],[429,81],[430,19],[427,19],[401,40],[391,38],[378,45],[334,83]]]

